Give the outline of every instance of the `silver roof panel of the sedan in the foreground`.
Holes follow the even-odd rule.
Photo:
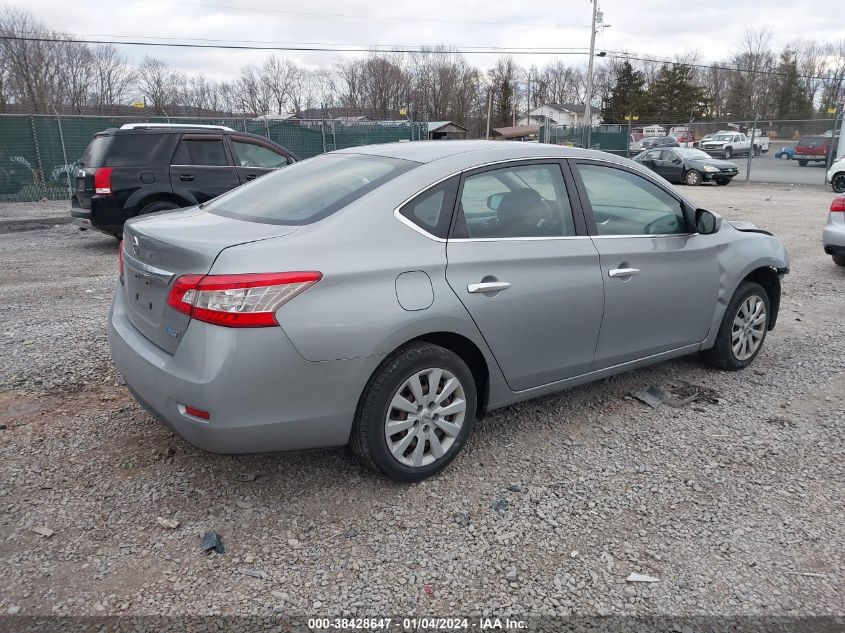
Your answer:
[[[507,160],[510,158],[589,158],[606,152],[563,147],[547,143],[525,143],[521,141],[414,141],[365,145],[337,150],[332,154],[365,154],[399,158],[418,163],[452,158],[459,155],[476,155],[479,160]]]

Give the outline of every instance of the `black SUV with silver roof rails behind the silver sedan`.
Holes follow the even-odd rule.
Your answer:
[[[129,218],[201,204],[297,160],[266,138],[223,126],[110,128],[94,135],[77,164],[71,219],[120,239]]]

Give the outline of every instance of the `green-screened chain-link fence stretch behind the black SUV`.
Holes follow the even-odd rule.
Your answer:
[[[425,123],[405,121],[0,115],[0,202],[68,198],[74,163],[93,135],[143,122],[225,125],[269,138],[300,158],[344,147],[422,140],[428,133]]]

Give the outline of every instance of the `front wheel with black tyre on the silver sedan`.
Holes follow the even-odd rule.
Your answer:
[[[705,360],[720,369],[744,369],[760,353],[769,326],[769,296],[760,284],[744,281],[731,299],[716,343]]]

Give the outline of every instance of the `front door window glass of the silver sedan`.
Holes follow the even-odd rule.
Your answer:
[[[599,235],[687,233],[681,202],[624,169],[578,165]]]

